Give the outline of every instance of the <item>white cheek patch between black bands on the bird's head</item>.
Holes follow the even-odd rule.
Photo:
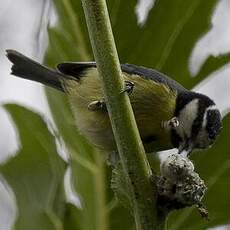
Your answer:
[[[181,137],[191,137],[193,121],[198,114],[199,99],[193,99],[190,101],[179,114],[180,125],[177,128],[177,132]]]

